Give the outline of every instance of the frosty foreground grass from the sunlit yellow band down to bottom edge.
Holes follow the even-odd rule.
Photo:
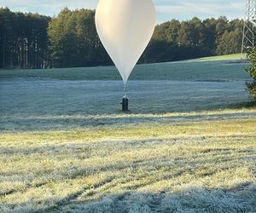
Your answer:
[[[0,210],[253,212],[253,112],[119,114],[106,126],[2,132]],[[193,115],[202,118],[186,119]],[[166,122],[123,120],[147,116]]]

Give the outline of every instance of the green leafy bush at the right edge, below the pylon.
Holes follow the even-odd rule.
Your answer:
[[[247,50],[247,59],[251,62],[251,66],[246,71],[253,78],[253,82],[247,82],[247,90],[256,99],[256,48]]]

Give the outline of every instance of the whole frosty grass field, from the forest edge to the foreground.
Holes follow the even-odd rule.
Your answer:
[[[0,212],[256,212],[246,66],[1,70]]]

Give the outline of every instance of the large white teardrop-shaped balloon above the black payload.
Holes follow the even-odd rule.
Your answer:
[[[156,15],[151,0],[100,0],[96,30],[124,83],[154,32]]]

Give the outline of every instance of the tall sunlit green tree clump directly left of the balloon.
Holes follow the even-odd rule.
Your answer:
[[[62,9],[49,22],[49,50],[55,66],[109,65],[111,60],[96,33],[95,11]]]

